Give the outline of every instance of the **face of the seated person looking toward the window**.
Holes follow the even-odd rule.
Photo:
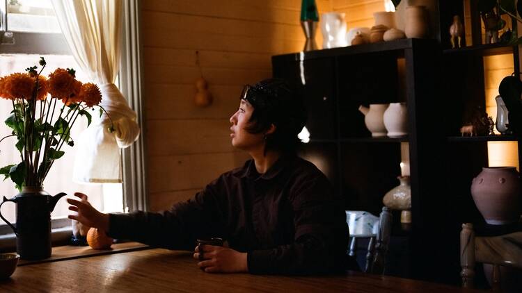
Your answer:
[[[232,137],[232,146],[245,151],[251,151],[264,146],[262,133],[248,133],[246,127],[248,126],[250,117],[252,116],[254,108],[248,101],[241,100],[239,108],[230,117],[230,137]]]

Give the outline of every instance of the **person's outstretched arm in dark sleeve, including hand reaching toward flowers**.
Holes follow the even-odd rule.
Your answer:
[[[171,210],[164,212],[104,214],[90,206],[85,194],[77,193],[75,195],[81,201],[68,199],[72,205],[70,210],[78,212],[70,218],[100,228],[114,238],[168,249],[192,250],[198,238],[223,237],[223,215],[213,189],[216,181],[188,201],[176,203]]]

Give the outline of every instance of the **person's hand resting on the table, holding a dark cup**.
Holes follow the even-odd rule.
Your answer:
[[[200,260],[198,266],[207,273],[242,273],[248,272],[246,253],[227,247],[202,245],[203,256],[200,260],[198,246],[194,249],[193,258]]]

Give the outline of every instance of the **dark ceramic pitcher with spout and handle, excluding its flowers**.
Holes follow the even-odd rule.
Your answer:
[[[3,203],[17,203],[16,226],[3,219],[16,234],[16,251],[24,260],[41,260],[51,256],[51,212],[58,199],[67,194],[49,195],[42,187],[23,187],[22,192]]]

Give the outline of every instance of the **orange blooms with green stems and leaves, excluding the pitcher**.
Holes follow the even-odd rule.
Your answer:
[[[75,79],[74,69],[56,69],[49,78],[40,75],[46,66],[26,68],[25,73],[0,77],[0,98],[13,103],[13,111],[5,123],[13,129],[15,144],[21,162],[0,169],[0,175],[11,178],[18,190],[22,186],[41,186],[54,160],[65,153],[64,144],[74,146],[70,130],[79,116],[85,116],[88,124],[91,115],[88,108],[100,108],[102,94],[97,85],[81,83]],[[63,105],[58,105],[58,100]],[[112,131],[112,129],[110,130]],[[1,150],[1,149],[0,149]]]

